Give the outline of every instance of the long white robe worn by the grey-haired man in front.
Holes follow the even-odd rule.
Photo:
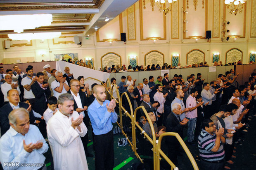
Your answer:
[[[47,135],[52,149],[55,170],[88,170],[83,143],[87,128],[82,122],[81,132],[71,127],[71,118],[77,119],[79,114],[73,111],[69,117],[59,110],[47,123]]]

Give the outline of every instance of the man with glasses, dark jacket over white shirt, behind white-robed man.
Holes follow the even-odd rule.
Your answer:
[[[72,79],[70,81],[70,90],[68,91],[74,97],[74,110],[76,110],[79,114],[83,114],[83,122],[87,129],[90,126],[90,118],[87,113],[88,108],[88,99],[86,97],[85,92],[80,91],[80,84],[77,79]],[[88,143],[88,133],[85,134],[84,137],[81,137],[83,142],[83,148],[85,150],[85,155],[88,157],[93,157],[92,154],[88,152],[87,143]]]

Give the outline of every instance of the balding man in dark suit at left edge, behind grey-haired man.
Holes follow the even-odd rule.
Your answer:
[[[0,126],[2,135],[10,128],[8,119],[9,113],[16,108],[27,109],[29,107],[28,104],[19,102],[19,92],[16,89],[9,90],[7,92],[7,98],[9,99],[9,103],[0,108]],[[29,122],[30,124],[36,123],[36,118],[32,111],[29,112]]]

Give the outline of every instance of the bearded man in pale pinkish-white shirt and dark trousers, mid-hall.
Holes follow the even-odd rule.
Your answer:
[[[158,119],[158,125],[161,126],[163,124],[163,113],[164,113],[164,102],[165,98],[168,95],[168,93],[163,94],[163,87],[160,84],[156,85],[156,94],[154,95],[154,101],[158,101],[160,103],[160,106],[157,108],[157,112],[159,112],[160,117]]]

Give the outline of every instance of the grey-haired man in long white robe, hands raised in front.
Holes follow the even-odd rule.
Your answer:
[[[87,133],[83,115],[74,111],[74,97],[61,94],[57,112],[47,123],[55,170],[88,170],[82,140]]]

